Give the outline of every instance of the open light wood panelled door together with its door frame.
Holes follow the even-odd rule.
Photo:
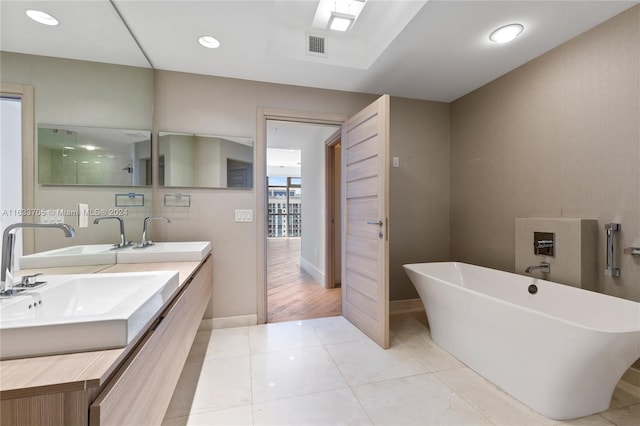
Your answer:
[[[267,123],[342,126],[342,316],[382,348],[389,347],[389,110],[383,95],[352,116],[258,108],[256,167],[266,174]],[[303,183],[304,185],[304,183]],[[257,320],[267,322],[266,185],[258,188]]]

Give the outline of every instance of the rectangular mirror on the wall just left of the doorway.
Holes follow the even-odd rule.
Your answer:
[[[160,132],[159,184],[190,188],[252,188],[253,139]]]

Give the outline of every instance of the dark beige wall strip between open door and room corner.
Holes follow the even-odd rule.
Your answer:
[[[392,97],[390,127],[389,297],[402,300],[418,297],[403,264],[449,260],[449,104]]]

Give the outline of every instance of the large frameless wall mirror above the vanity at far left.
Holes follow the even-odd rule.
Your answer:
[[[143,194],[144,205],[138,203],[142,197],[136,197],[135,205],[126,207],[123,215],[128,239],[137,240],[144,218],[153,215],[152,188],[140,186],[151,183],[145,159],[150,158],[150,146],[143,153],[145,144],[140,143],[150,140],[148,129],[153,123],[151,64],[120,18],[116,8],[122,2],[47,1],[46,12],[60,22],[55,27],[32,22],[25,14],[33,7],[31,3],[38,2],[3,1],[0,13],[0,79],[32,86],[35,92],[37,121],[29,124],[34,135],[26,141],[29,156],[23,159],[35,168],[35,181],[28,186],[23,183],[24,190],[33,194],[33,205],[23,207],[74,212],[83,203],[100,212],[123,201],[116,194]],[[88,16],[91,19],[86,19]],[[108,29],[108,37],[96,28]],[[96,128],[133,130],[117,131],[124,134],[122,140],[127,144],[107,149],[108,144],[98,142],[102,136],[92,134],[91,142],[84,141],[85,133],[97,132]],[[58,130],[57,136],[53,129]],[[138,139],[138,133],[145,136]],[[54,152],[51,145],[63,135],[73,137],[62,147],[75,147],[75,152],[59,148]],[[82,145],[96,149],[83,149]],[[132,154],[134,146],[137,153]],[[38,217],[31,219],[40,221]],[[65,213],[63,220],[76,228],[75,238],[65,238],[61,232],[23,232],[25,241],[31,241],[23,254],[117,241],[115,225],[93,225],[90,221],[87,228],[80,228],[72,213]]]

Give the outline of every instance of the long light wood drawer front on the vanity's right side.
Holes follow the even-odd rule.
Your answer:
[[[90,408],[92,426],[159,425],[211,298],[209,256]]]

